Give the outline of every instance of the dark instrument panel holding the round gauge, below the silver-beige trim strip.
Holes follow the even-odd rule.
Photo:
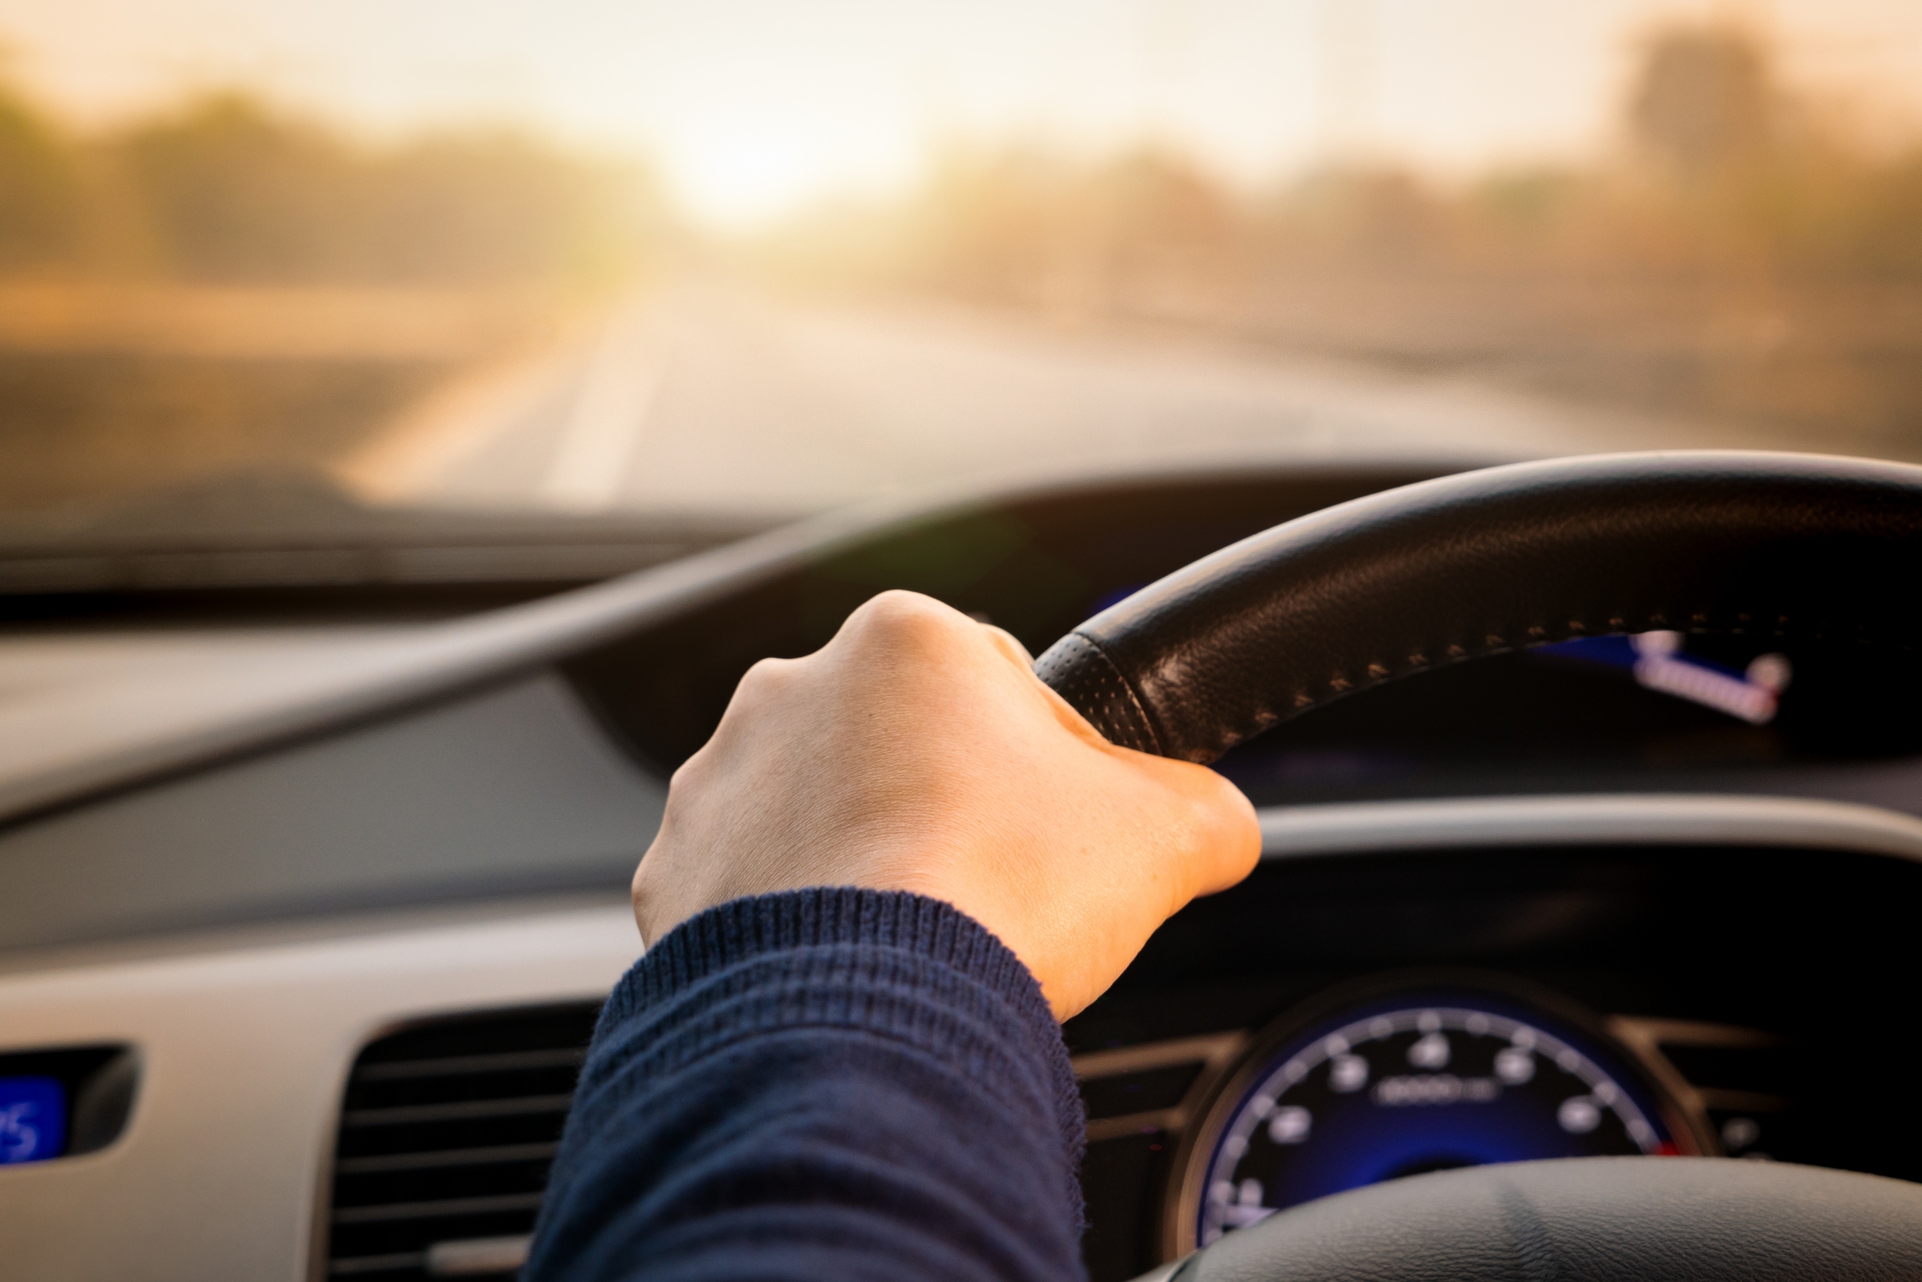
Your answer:
[[[1868,1084],[1907,1051],[1839,1069],[1822,1032],[1887,1009],[1899,909],[1862,896],[1899,903],[1916,875],[1605,840],[1278,853],[1069,1024],[1092,1272],[1480,1161],[1730,1153],[1922,1178],[1922,1132]]]

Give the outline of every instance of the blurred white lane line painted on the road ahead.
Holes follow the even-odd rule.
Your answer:
[[[607,325],[580,377],[540,498],[555,507],[600,511],[621,496],[648,413],[667,375],[671,350],[653,311],[636,308]]]

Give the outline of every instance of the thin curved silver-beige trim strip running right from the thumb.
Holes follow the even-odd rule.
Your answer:
[[[1922,861],[1922,819],[1851,801],[1605,794],[1261,811],[1267,859],[1465,846],[1772,846]]]

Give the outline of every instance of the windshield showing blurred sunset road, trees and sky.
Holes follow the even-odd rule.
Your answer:
[[[0,40],[8,540],[1922,457],[1914,4],[4,0]]]

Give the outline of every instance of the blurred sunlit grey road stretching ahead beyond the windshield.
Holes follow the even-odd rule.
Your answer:
[[[388,498],[798,511],[953,481],[1730,444],[1709,429],[1178,336],[682,290],[390,450]],[[406,444],[406,442],[402,442]],[[398,459],[398,461],[394,461]]]

